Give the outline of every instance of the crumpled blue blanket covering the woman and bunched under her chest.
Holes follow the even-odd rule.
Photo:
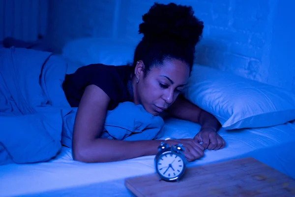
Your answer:
[[[77,108],[62,90],[67,65],[50,52],[0,48],[0,164],[46,162],[71,147]],[[164,121],[141,105],[123,102],[108,111],[104,138],[161,137]]]

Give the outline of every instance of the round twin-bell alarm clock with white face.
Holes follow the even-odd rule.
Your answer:
[[[158,146],[158,153],[155,156],[154,164],[160,180],[179,181],[185,171],[187,163],[184,157],[182,144],[171,145],[166,143],[168,139]]]

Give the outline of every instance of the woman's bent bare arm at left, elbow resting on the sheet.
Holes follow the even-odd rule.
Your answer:
[[[73,131],[73,158],[81,162],[111,162],[157,153],[158,140],[120,141],[99,138],[110,98],[95,85],[85,89]]]

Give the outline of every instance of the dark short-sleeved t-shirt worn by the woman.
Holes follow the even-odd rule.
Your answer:
[[[78,107],[85,88],[96,85],[110,97],[108,109],[113,110],[119,102],[133,99],[131,72],[132,66],[82,66],[65,76],[62,88],[71,107]]]

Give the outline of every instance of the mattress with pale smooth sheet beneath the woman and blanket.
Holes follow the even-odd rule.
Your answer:
[[[167,119],[165,137],[190,138],[200,126],[178,119]],[[295,159],[290,155],[295,143],[295,124],[269,128],[225,131],[220,135],[227,145],[218,151],[205,151],[205,157],[188,167],[236,158],[254,157],[295,178]],[[0,166],[0,197],[128,197],[124,179],[154,173],[154,156],[126,161],[84,164],[72,160],[71,150],[63,147],[57,158],[39,164]],[[287,164],[285,163],[287,162]]]

